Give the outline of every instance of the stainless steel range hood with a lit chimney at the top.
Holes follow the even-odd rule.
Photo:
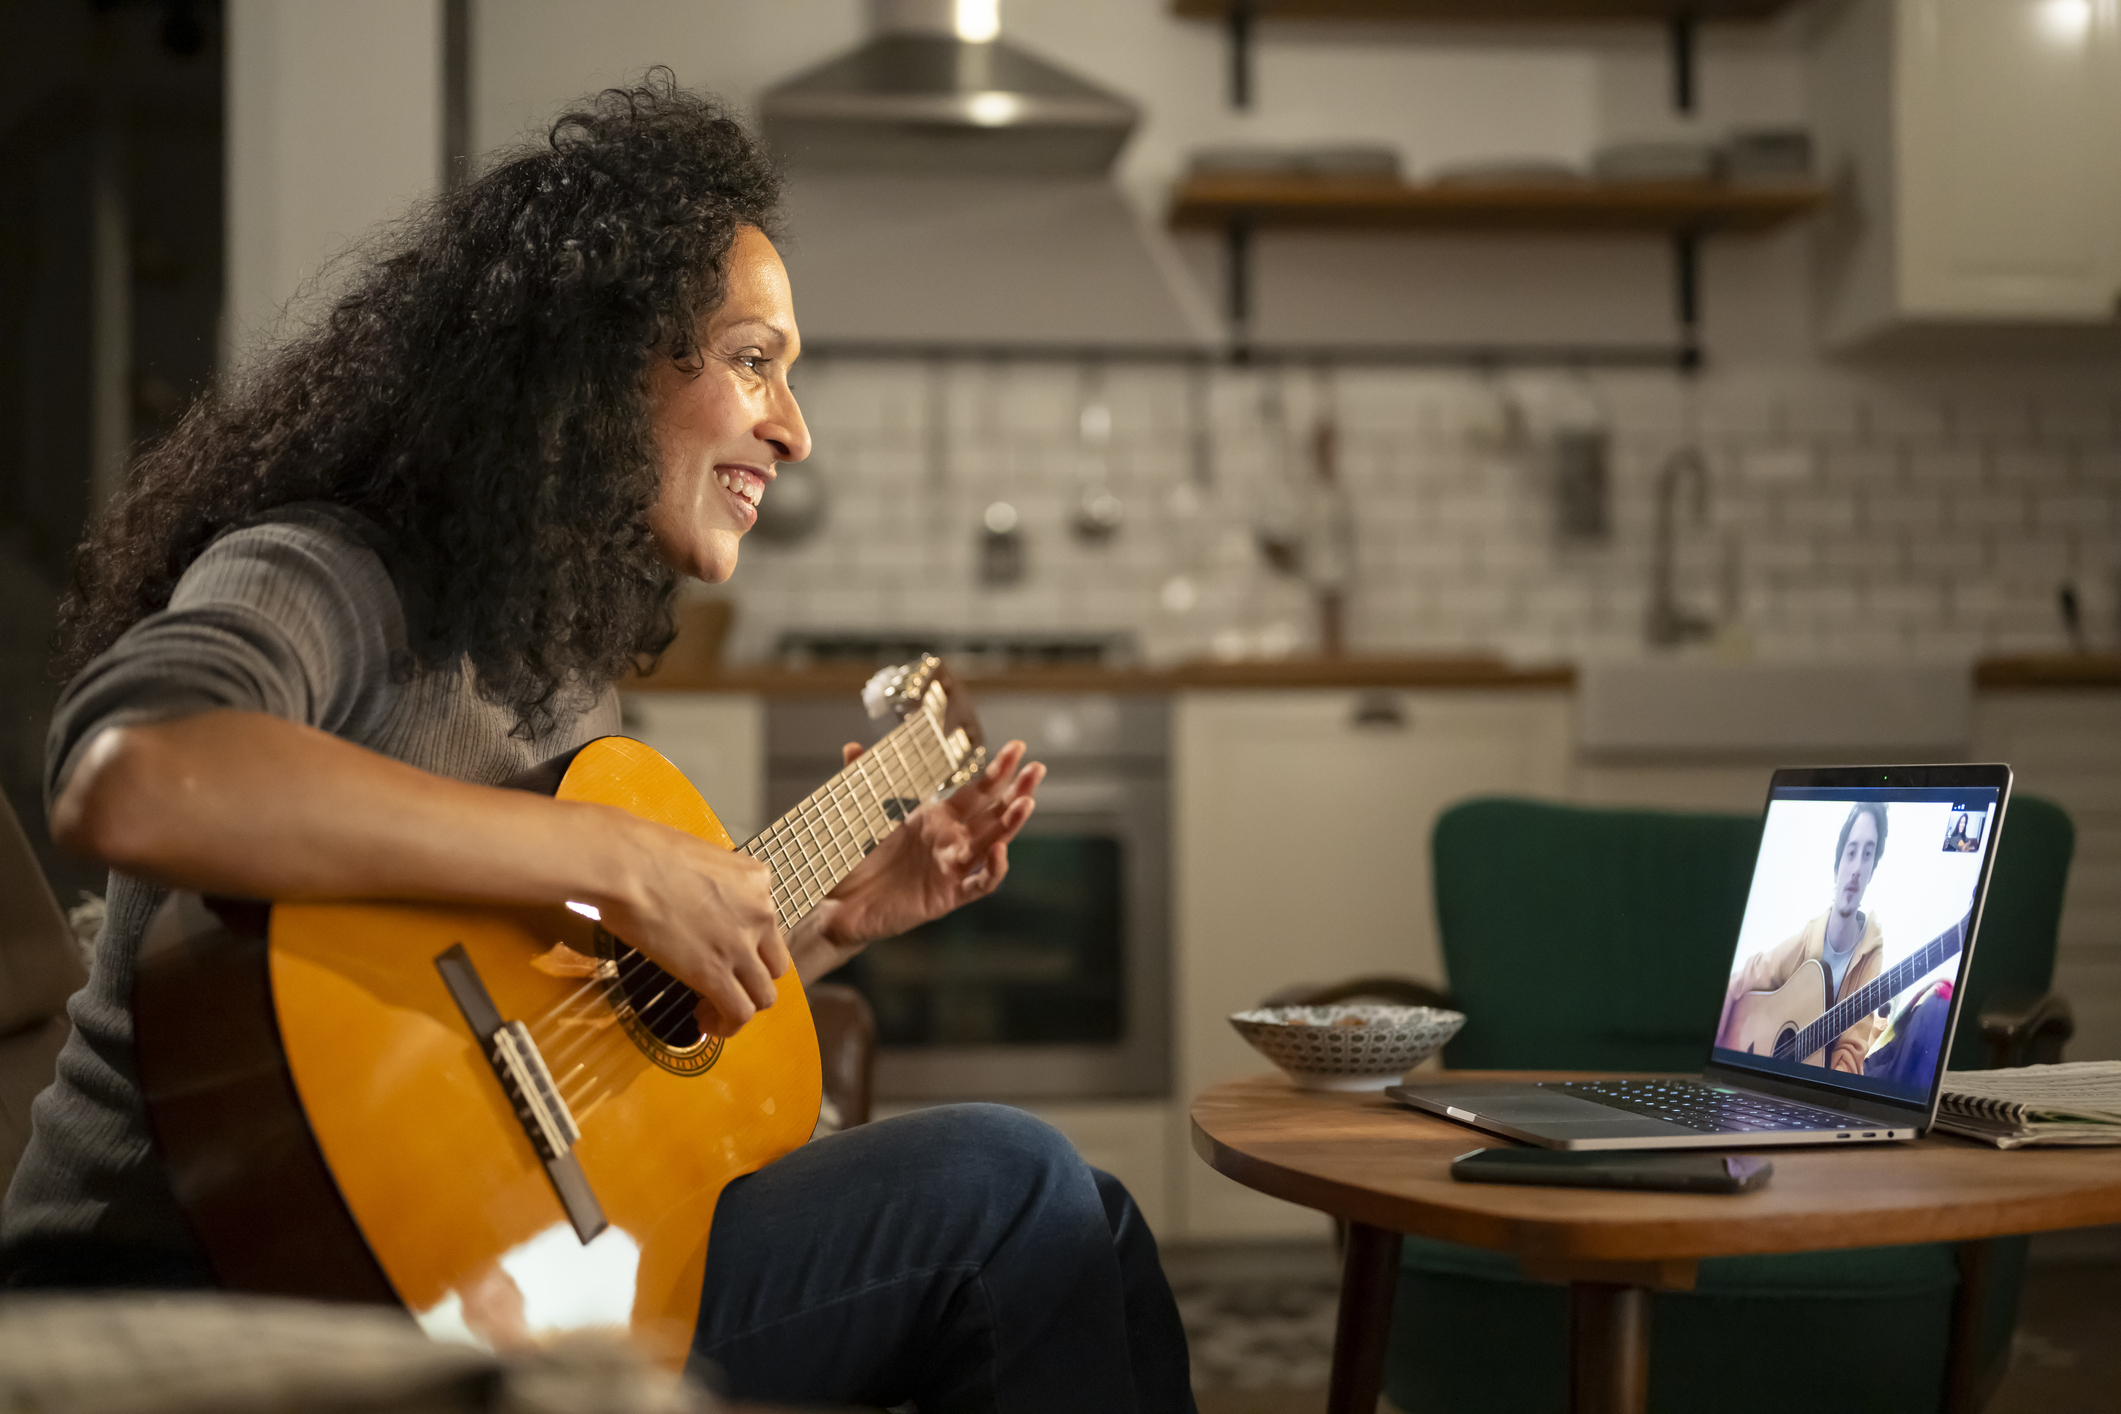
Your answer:
[[[995,0],[872,0],[861,49],[759,102],[797,172],[1103,176],[1141,110],[999,38]]]

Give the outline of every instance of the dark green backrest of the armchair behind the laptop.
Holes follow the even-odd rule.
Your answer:
[[[2019,795],[1998,842],[1953,1066],[1973,1018],[2055,971],[2074,831]],[[1695,1071],[1746,912],[1760,818],[1525,799],[1453,806],[1432,835],[1436,924],[1466,1028],[1453,1068]]]

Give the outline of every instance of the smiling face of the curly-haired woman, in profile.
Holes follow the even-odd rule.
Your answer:
[[[810,428],[789,390],[802,352],[789,273],[757,227],[730,246],[728,297],[700,329],[700,358],[649,367],[649,420],[662,490],[649,511],[655,553],[672,570],[721,583],[736,543],[759,519],[774,462],[810,456]]]

